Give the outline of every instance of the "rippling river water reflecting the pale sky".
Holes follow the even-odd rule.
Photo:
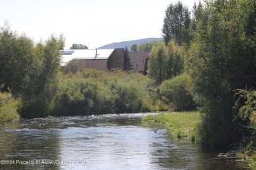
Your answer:
[[[35,118],[0,127],[0,169],[239,169],[207,161],[216,153],[143,122],[146,115]]]

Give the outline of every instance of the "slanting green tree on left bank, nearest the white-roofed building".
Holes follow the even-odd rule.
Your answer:
[[[22,95],[20,114],[33,118],[49,115],[49,107],[57,88],[60,70],[60,50],[64,48],[64,37],[51,35],[45,43],[34,48],[32,70],[28,73],[25,93]]]

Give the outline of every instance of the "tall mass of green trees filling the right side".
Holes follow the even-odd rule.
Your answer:
[[[203,144],[256,144],[255,16],[255,0],[203,1],[192,11],[178,2],[165,10],[164,42],[151,50],[148,76],[159,84],[191,78],[186,89],[202,114]]]

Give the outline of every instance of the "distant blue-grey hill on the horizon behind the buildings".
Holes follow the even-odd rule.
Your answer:
[[[137,44],[140,46],[141,43],[146,43],[150,41],[161,41],[162,38],[148,38],[148,39],[138,39],[133,41],[122,41],[122,42],[114,42],[112,44],[106,44],[104,46],[100,46],[98,49],[109,49],[109,48],[125,48],[125,46],[128,47],[129,50],[131,50],[131,46],[133,44]]]

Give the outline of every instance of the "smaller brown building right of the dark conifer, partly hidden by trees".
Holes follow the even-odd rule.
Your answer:
[[[129,52],[129,54],[134,69],[146,75],[150,52]]]

